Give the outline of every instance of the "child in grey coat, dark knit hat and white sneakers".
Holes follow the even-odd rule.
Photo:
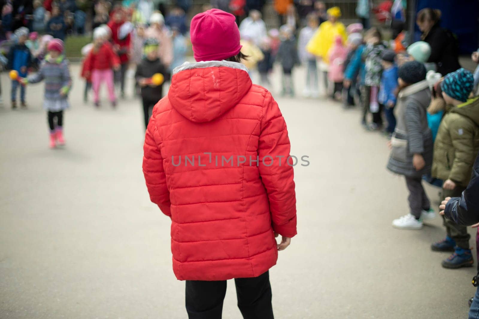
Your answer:
[[[410,213],[393,220],[392,226],[421,229],[423,220],[436,217],[421,182],[422,175],[431,172],[433,162],[433,136],[426,111],[431,90],[426,81],[426,68],[417,61],[399,67],[398,77],[397,124],[390,141],[388,170],[406,178]]]

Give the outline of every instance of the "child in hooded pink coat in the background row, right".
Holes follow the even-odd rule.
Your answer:
[[[341,99],[342,80],[344,79],[344,60],[346,60],[347,54],[348,50],[342,45],[342,37],[340,35],[336,36],[334,44],[328,52],[330,60],[328,79],[331,83],[334,83],[332,91],[333,99]]]

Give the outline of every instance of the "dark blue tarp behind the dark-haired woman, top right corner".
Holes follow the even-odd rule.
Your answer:
[[[478,49],[479,0],[417,0],[416,12],[424,8],[441,10],[441,26],[457,35],[461,54]],[[417,41],[421,32],[417,25],[415,30]]]

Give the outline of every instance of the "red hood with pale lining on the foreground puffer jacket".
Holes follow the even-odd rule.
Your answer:
[[[184,63],[173,70],[168,99],[193,122],[209,122],[236,104],[251,88],[246,66],[228,61]]]

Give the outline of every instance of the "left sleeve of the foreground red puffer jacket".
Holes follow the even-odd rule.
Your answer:
[[[143,146],[143,174],[145,175],[151,201],[157,204],[161,211],[171,218],[170,191],[166,185],[163,158],[159,149],[161,140],[156,128],[155,118],[156,112],[154,111],[148,123],[145,144]]]

